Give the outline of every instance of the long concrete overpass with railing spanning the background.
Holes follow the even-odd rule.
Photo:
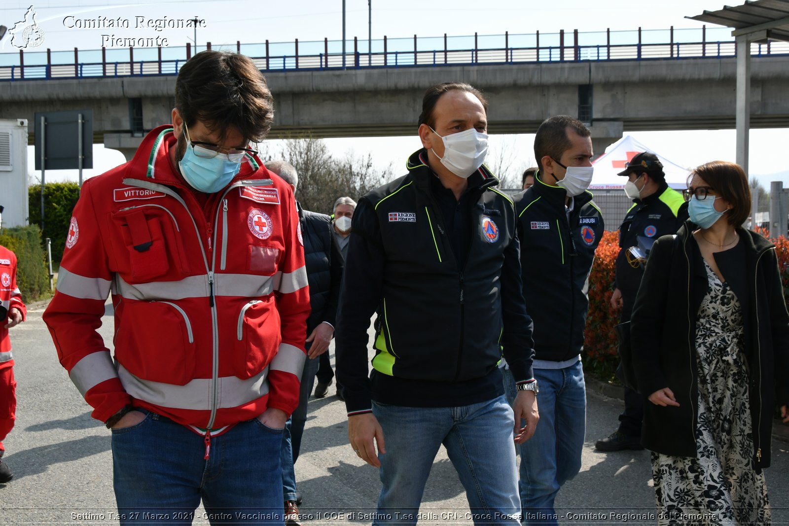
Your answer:
[[[632,32],[631,32],[632,33]],[[623,132],[735,128],[734,41],[638,42],[582,46],[575,32],[559,45],[419,49],[363,53],[256,56],[275,96],[271,137],[397,136],[416,132],[424,89],[445,81],[481,88],[489,100],[489,132],[535,132],[544,118],[570,114],[588,122],[595,151]],[[581,34],[583,35],[583,34]],[[605,35],[605,33],[602,33]],[[567,42],[567,45],[565,45]],[[357,43],[358,46],[358,43]],[[208,44],[210,47],[210,43]],[[303,49],[303,47],[302,47]],[[237,50],[255,56],[237,43]],[[149,50],[150,51],[150,50]],[[185,48],[189,56],[189,47]],[[789,127],[789,46],[751,47],[751,126]],[[36,111],[91,108],[94,141],[133,154],[145,131],[166,122],[185,58],[129,62],[19,64],[0,62],[0,118]],[[47,54],[48,58],[48,54]],[[345,67],[342,65],[345,61]],[[40,62],[40,61],[39,61]]]

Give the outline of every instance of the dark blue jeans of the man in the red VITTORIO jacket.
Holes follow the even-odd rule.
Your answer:
[[[203,499],[211,524],[282,524],[282,430],[259,420],[211,438],[148,412],[112,430],[115,499],[121,524],[192,524]]]

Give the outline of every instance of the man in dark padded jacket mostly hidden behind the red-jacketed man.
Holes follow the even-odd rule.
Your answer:
[[[282,177],[296,193],[298,173],[293,165],[285,161],[267,162],[267,169]],[[307,360],[301,372],[301,390],[298,407],[288,420],[282,434],[282,493],[285,498],[285,524],[296,526],[298,522],[297,502],[301,503],[296,491],[294,464],[301,449],[301,436],[307,421],[307,400],[312,392],[312,383],[318,371],[318,356],[329,348],[334,338],[337,303],[342,282],[342,254],[331,232],[331,218],[301,208],[297,202],[304,244],[305,267],[309,284],[309,306],[312,309],[307,319]]]

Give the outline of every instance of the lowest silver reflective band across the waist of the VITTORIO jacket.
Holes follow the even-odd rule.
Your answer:
[[[193,379],[185,386],[171,383],[151,382],[137,378],[118,364],[118,376],[129,396],[161,407],[177,409],[211,410],[211,379]],[[268,393],[268,367],[250,379],[235,376],[217,379],[219,405],[217,408],[234,408],[257,400]]]

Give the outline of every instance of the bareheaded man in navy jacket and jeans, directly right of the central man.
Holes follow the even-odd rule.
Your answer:
[[[589,308],[589,272],[604,232],[603,215],[586,190],[592,139],[578,119],[544,121],[534,138],[540,170],[515,196],[526,309],[534,320],[534,377],[540,425],[521,453],[523,524],[557,524],[559,488],[581,469],[586,390],[581,367]],[[514,390],[508,371],[507,390]]]

